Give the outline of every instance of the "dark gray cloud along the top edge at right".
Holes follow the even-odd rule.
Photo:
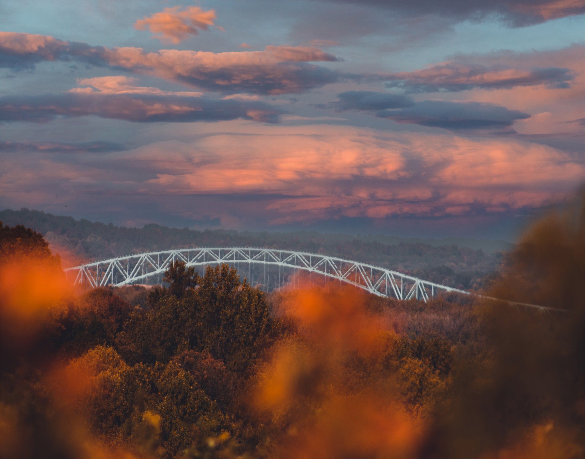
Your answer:
[[[585,13],[580,0],[329,0],[370,5],[405,16],[443,16],[453,21],[497,18],[511,27],[522,27],[551,19]]]

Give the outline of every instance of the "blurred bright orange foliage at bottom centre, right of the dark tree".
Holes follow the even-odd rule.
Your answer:
[[[357,393],[343,373],[351,356],[381,352],[385,322],[364,306],[352,287],[291,291],[285,310],[298,321],[301,339],[281,344],[261,371],[256,408],[270,412],[286,433],[273,457],[415,457],[422,426],[392,392],[369,384]]]

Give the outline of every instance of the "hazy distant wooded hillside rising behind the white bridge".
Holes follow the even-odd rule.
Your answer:
[[[116,227],[72,217],[21,209],[0,212],[5,224],[24,224],[43,234],[68,254],[67,263],[124,256],[130,253],[204,246],[250,246],[326,253],[371,263],[456,288],[486,288],[512,244],[472,239],[404,239],[388,236],[320,234],[318,232],[194,231],[156,224],[143,228]]]

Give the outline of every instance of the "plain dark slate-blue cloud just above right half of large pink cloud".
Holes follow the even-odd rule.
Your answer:
[[[528,113],[482,102],[452,102],[424,100],[414,102],[408,96],[376,91],[347,91],[329,103],[338,111],[361,110],[373,112],[378,118],[397,123],[442,127],[450,130],[492,129],[510,127],[515,120],[529,118]],[[323,106],[325,107],[325,106]]]

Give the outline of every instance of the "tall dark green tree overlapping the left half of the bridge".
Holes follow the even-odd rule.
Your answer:
[[[202,278],[184,268],[173,263],[165,276],[176,279],[171,287],[153,288],[152,309],[130,314],[118,349],[126,360],[144,363],[167,363],[186,350],[207,350],[228,370],[246,373],[279,335],[280,321],[271,317],[264,294],[240,282],[228,265],[208,267]]]

